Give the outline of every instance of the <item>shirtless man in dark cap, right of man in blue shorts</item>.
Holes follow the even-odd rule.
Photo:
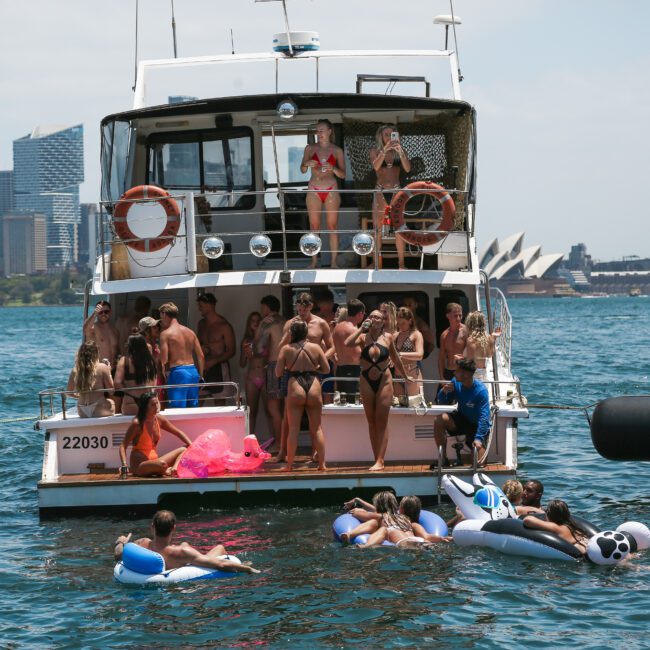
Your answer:
[[[205,375],[207,382],[230,381],[228,359],[235,355],[235,332],[230,323],[217,314],[217,299],[213,293],[203,293],[196,303],[203,318],[197,327],[199,342],[205,354]],[[232,397],[232,389],[227,386],[206,386],[201,395],[208,399]]]

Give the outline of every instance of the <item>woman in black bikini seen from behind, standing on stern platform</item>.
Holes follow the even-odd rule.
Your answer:
[[[307,411],[312,445],[318,456],[318,469],[325,470],[325,438],[321,428],[323,410],[323,393],[318,373],[329,372],[329,362],[320,345],[307,341],[307,323],[296,319],[289,328],[290,342],[284,345],[278,355],[275,366],[276,377],[282,377],[285,368],[289,373],[287,386],[287,418],[289,437],[287,439],[287,465],[289,472],[293,469],[293,459],[298,446],[298,432],[303,411]]]

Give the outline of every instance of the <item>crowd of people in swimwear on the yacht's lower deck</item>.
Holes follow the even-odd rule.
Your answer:
[[[236,384],[229,383],[237,352],[235,331],[216,305],[213,293],[197,297],[201,318],[196,332],[179,322],[174,303],[152,311],[146,296],[138,297],[133,312],[115,324],[110,303],[100,300],[84,322],[86,340],[78,350],[68,390],[78,398],[80,417],[135,416],[121,452],[123,464],[134,474],[173,474],[179,457],[157,457],[161,428],[189,444],[185,434],[158,413],[161,403],[165,408],[223,405],[235,396]],[[239,366],[244,369],[251,430],[256,430],[263,409],[269,437],[276,441],[276,461],[291,470],[306,414],[312,460],[326,470],[323,404],[349,399],[361,404],[366,415],[374,458],[369,469],[383,470],[390,409],[425,401],[422,360],[433,350],[435,335],[419,314],[417,298],[406,295],[400,306],[382,302],[366,313],[358,299],[337,308],[332,292],[324,289],[315,299],[307,292],[298,294],[293,318],[285,320],[280,309],[278,298],[265,296],[243,328]],[[449,303],[446,315],[449,326],[440,336],[436,399],[458,407],[436,418],[436,444],[444,450],[448,435],[462,435],[469,451],[475,447],[483,453],[490,397],[477,376],[485,379],[499,332],[486,332],[481,312],[470,313],[463,324],[458,303]],[[130,443],[133,451],[127,463],[125,445]],[[443,463],[450,464],[447,458]]]

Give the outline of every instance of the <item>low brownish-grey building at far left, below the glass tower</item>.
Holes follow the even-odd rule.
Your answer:
[[[45,215],[8,212],[0,219],[4,275],[29,275],[47,271]]]

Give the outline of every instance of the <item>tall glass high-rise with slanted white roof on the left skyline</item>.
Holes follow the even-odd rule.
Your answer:
[[[39,126],[14,140],[15,207],[47,218],[47,265],[64,267],[77,258],[79,185],[84,180],[83,126]]]

